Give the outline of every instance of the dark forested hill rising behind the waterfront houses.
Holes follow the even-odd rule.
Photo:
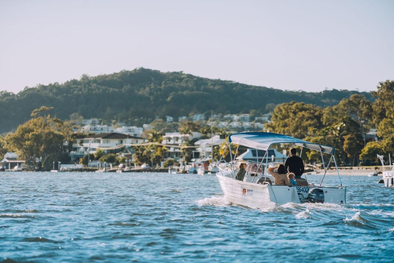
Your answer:
[[[138,68],[109,75],[73,79],[25,88],[18,94],[0,93],[0,133],[14,130],[30,118],[33,109],[54,107],[58,118],[78,113],[84,118],[141,121],[155,116],[188,116],[189,113],[264,113],[268,103],[303,101],[320,106],[335,105],[351,94],[349,90],[323,92],[284,91],[233,81],[206,79],[182,72],[163,73]],[[369,100],[372,96],[362,92]]]

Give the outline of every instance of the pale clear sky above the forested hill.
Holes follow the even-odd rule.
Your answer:
[[[394,1],[0,0],[0,90],[144,67],[288,90],[394,79]]]

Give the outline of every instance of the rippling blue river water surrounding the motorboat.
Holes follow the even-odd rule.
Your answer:
[[[377,177],[342,181],[347,205],[250,209],[230,205],[213,175],[0,172],[0,257],[391,262],[394,188]]]

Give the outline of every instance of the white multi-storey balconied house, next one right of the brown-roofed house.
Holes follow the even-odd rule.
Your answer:
[[[169,145],[168,151],[165,153],[165,157],[179,158],[181,157],[180,147],[183,143],[187,143],[190,140],[198,139],[203,133],[193,131],[191,134],[181,134],[179,132],[166,132],[163,136],[162,144]],[[175,147],[171,147],[174,145]]]

